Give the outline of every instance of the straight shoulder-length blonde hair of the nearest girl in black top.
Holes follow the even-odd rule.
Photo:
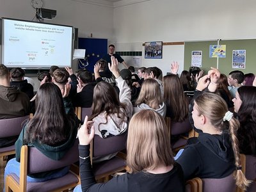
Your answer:
[[[170,137],[164,118],[143,109],[131,118],[127,138],[127,165],[131,173],[173,164]]]

